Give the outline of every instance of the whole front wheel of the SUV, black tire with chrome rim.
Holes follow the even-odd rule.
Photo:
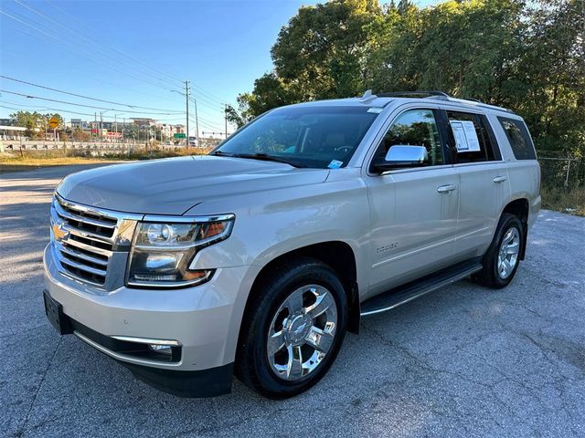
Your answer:
[[[236,375],[272,399],[308,390],[329,370],[346,333],[347,298],[339,277],[303,257],[273,269],[252,292]]]

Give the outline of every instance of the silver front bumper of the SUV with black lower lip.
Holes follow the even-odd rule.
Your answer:
[[[178,391],[179,395],[218,395],[229,389],[239,325],[258,266],[217,269],[210,281],[197,287],[119,287],[104,291],[60,274],[53,251],[49,244],[43,255],[45,287],[62,306],[63,314],[73,321],[76,336],[122,362],[141,380],[165,391],[177,393],[173,388],[186,389],[189,381],[196,387],[206,383],[212,391]],[[83,329],[75,329],[76,323],[78,328],[88,328],[99,336],[91,337]],[[176,340],[181,346],[180,358],[162,361],[129,354],[109,348],[101,337]],[[224,384],[218,384],[219,378]]]

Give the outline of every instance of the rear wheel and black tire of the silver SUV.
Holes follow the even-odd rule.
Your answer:
[[[473,278],[485,287],[506,287],[516,275],[525,238],[524,227],[518,217],[502,214],[492,245],[484,255],[484,268]]]

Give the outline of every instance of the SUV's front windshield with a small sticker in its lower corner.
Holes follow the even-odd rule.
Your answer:
[[[367,107],[282,108],[254,120],[218,149],[218,155],[337,168],[349,162],[378,111]]]

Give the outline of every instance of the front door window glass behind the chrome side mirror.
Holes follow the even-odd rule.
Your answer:
[[[424,146],[429,152],[429,164],[443,164],[439,128],[432,110],[404,111],[392,122],[384,140],[376,152],[376,158],[383,159],[391,146]]]

